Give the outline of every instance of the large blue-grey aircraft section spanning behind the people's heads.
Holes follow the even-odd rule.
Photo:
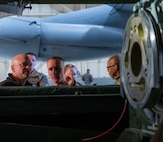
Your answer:
[[[2,18],[0,57],[34,52],[39,59],[60,56],[70,61],[118,54],[132,6],[102,5],[41,19]]]

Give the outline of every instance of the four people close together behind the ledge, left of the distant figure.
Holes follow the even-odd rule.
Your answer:
[[[49,86],[46,75],[38,72],[34,68],[35,65],[36,55],[34,53],[16,55],[11,62],[11,73],[8,74],[6,80],[0,82],[0,86]],[[80,85],[76,83],[72,67],[67,70],[69,74],[64,75],[64,61],[60,57],[49,58],[47,69],[54,86]]]

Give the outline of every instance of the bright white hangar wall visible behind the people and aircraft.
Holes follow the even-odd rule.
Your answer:
[[[22,15],[30,16],[30,17],[46,17],[51,15],[63,14],[66,12],[76,11],[80,9],[86,9],[90,7],[94,7],[100,4],[31,4],[32,9],[26,8]],[[28,5],[27,5],[28,7]],[[0,12],[0,17],[9,16],[11,14]],[[106,64],[109,57],[99,58],[94,60],[87,61],[74,61],[74,62],[65,62],[74,64],[80,75],[84,74],[86,70],[89,68],[91,74],[94,77],[94,81],[92,84],[97,85],[106,85],[112,84],[114,82],[108,75]],[[4,80],[7,74],[10,72],[10,61],[4,60],[0,58],[0,66],[1,66],[1,74],[0,81]],[[36,69],[40,72],[43,72],[47,75],[46,63],[38,61],[36,65]],[[78,81],[83,84],[83,81],[78,77]],[[47,75],[48,76],[48,75]],[[51,84],[49,79],[49,84]]]

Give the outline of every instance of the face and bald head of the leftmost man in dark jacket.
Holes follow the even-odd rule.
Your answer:
[[[31,73],[31,61],[26,56],[20,57],[12,65],[12,74],[18,80],[25,80]]]

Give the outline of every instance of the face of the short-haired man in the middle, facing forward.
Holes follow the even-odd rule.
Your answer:
[[[47,62],[48,75],[53,83],[63,81],[63,63],[56,59]]]

